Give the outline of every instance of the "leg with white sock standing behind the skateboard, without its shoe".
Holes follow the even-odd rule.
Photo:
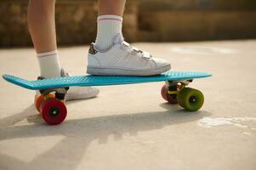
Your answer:
[[[28,26],[42,77],[60,77],[54,3],[55,0],[30,0],[27,11]]]

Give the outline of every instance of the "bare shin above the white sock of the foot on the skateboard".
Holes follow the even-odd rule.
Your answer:
[[[99,15],[115,14],[122,16],[126,0],[99,0]]]

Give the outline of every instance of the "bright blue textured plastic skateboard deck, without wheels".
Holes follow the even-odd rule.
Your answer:
[[[26,80],[20,77],[5,74],[3,78],[22,88],[31,90],[40,90],[47,88],[64,88],[71,86],[106,86],[134,84],[144,82],[164,82],[164,81],[182,81],[196,78],[211,77],[212,74],[207,71],[167,71],[160,75],[151,77],[122,77],[122,76],[72,76],[56,77],[43,80]]]

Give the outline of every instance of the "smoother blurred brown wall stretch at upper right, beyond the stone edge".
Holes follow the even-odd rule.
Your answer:
[[[256,38],[255,0],[142,0],[139,39],[198,41]]]

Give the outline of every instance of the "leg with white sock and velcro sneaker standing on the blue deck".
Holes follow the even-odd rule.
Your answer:
[[[168,61],[131,47],[122,37],[125,0],[99,0],[97,37],[88,54],[87,72],[94,75],[151,76],[168,71]]]

